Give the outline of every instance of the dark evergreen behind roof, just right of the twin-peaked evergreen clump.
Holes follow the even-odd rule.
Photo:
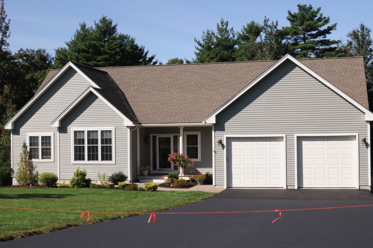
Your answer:
[[[258,59],[260,43],[258,38],[263,31],[263,25],[251,21],[237,32],[237,61],[253,61]]]

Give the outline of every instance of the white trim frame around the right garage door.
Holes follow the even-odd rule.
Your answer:
[[[355,136],[355,163],[356,163],[356,189],[359,188],[359,134],[358,133],[298,133],[294,134],[294,165],[295,165],[295,189],[298,189],[298,137],[326,137],[326,136]]]

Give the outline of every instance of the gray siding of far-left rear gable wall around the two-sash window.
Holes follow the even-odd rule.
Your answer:
[[[28,133],[53,133],[54,161],[34,160],[37,171],[58,174],[58,133],[51,122],[91,84],[74,69],[68,69],[15,121],[13,129],[13,169],[18,170],[23,141]]]

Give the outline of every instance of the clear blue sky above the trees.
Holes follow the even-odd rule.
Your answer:
[[[94,25],[103,15],[118,24],[119,32],[130,34],[149,54],[167,62],[170,58],[194,58],[194,37],[201,39],[207,28],[216,30],[223,18],[229,27],[239,31],[250,21],[263,23],[264,16],[288,26],[287,11],[297,11],[297,4],[321,7],[337,29],[330,39],[346,40],[346,33],[363,22],[373,28],[373,1],[124,1],[124,0],[4,0],[10,21],[10,50],[44,48],[54,55],[54,49],[65,46],[79,23]]]

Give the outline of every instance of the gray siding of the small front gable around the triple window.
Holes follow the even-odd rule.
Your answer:
[[[72,162],[73,128],[115,128],[115,164]],[[128,175],[128,128],[120,117],[94,93],[90,93],[65,118],[60,127],[60,180],[72,178],[76,168],[87,170],[87,177],[97,180],[97,173],[110,176],[117,171]]]

